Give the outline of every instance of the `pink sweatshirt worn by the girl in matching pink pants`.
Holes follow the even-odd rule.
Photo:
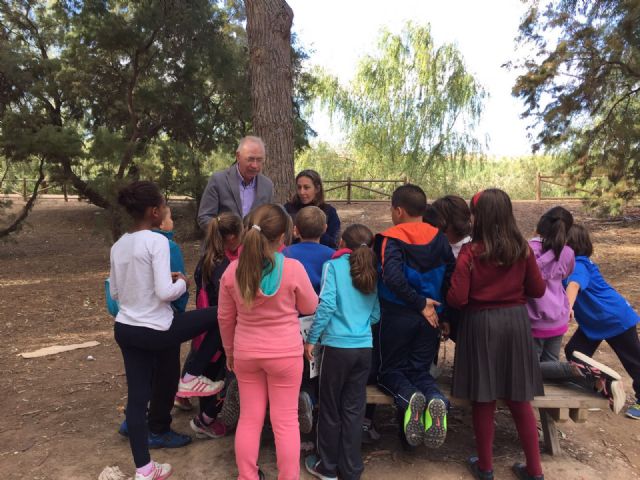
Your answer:
[[[298,314],[311,315],[318,296],[300,262],[285,258],[282,280],[271,296],[260,291],[248,309],[236,282],[238,261],[220,280],[218,323],[227,355],[241,360],[297,357],[303,353]]]

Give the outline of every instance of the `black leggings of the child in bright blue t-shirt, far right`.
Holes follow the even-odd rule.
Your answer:
[[[620,363],[633,381],[633,390],[636,394],[636,402],[640,403],[640,339],[636,326],[625,330],[620,335],[604,339],[620,359]],[[572,358],[574,350],[592,357],[602,340],[590,340],[584,332],[578,328],[571,340],[564,347],[567,359]]]

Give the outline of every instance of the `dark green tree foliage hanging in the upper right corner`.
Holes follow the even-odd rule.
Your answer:
[[[640,191],[640,3],[531,2],[519,42],[530,52],[513,94],[541,126],[536,148],[567,152],[572,181],[595,175],[620,208]]]

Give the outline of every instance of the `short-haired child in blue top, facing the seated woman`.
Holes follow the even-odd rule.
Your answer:
[[[288,246],[282,254],[302,263],[313,289],[319,294],[322,266],[335,253],[335,250],[320,244],[320,237],[327,230],[327,216],[318,207],[304,207],[297,213],[294,223],[293,235],[299,237],[300,242]]]

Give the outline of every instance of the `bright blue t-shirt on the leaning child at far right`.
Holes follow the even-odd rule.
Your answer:
[[[576,257],[573,273],[564,281],[580,285],[573,312],[580,329],[590,340],[604,340],[640,322],[629,302],[609,285],[589,257]]]

